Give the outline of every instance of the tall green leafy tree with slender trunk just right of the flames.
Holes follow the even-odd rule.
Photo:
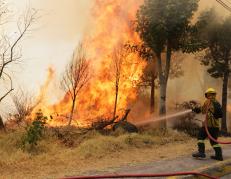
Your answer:
[[[172,53],[184,51],[185,37],[198,0],[145,0],[137,11],[136,31],[157,59],[160,83],[159,114],[166,114],[166,91]],[[161,123],[166,127],[166,121]]]

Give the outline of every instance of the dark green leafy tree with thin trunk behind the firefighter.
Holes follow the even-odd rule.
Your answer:
[[[207,66],[213,78],[223,80],[222,87],[222,131],[227,132],[227,89],[231,72],[231,17],[222,19],[214,9],[201,14],[197,23],[201,42],[206,46],[202,64]]]

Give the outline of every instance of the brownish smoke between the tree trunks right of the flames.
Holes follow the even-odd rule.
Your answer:
[[[214,8],[221,17],[226,17],[230,15],[230,12],[224,9],[219,3],[215,0],[201,0],[199,2],[199,8],[196,14],[194,15],[193,22],[196,21],[197,17],[202,11]],[[167,88],[167,109],[168,113],[174,112],[176,104],[182,103],[184,101],[198,100],[201,103],[204,102],[204,92],[207,88],[213,87],[218,91],[217,98],[221,101],[221,89],[222,81],[220,79],[214,79],[210,77],[207,73],[205,66],[200,64],[198,54],[180,54],[176,55],[177,58],[182,58],[182,70],[184,75],[179,78],[169,79],[168,88]],[[174,60],[174,59],[173,59]],[[147,93],[142,96],[135,105],[133,109],[137,114],[132,115],[132,121],[142,121],[143,119],[149,118],[148,116],[150,111],[150,89],[147,89]],[[155,104],[156,106],[159,103],[159,90],[156,89],[155,94]],[[155,115],[158,115],[158,108],[155,109]]]

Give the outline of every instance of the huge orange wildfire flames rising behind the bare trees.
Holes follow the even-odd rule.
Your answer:
[[[85,126],[99,118],[111,118],[115,103],[115,79],[112,69],[112,53],[121,43],[138,43],[139,37],[132,29],[135,14],[142,0],[95,0],[92,8],[92,28],[84,38],[91,62],[91,79],[78,95],[73,125]],[[125,59],[121,70],[117,114],[121,115],[137,98],[137,82],[145,62],[135,53]],[[39,105],[35,114],[42,110],[48,116],[51,126],[67,125],[72,100],[68,93],[56,104],[48,104],[48,86],[52,83],[54,71],[49,69],[48,79],[41,87]]]

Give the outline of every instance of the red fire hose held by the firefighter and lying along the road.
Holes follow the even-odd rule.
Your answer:
[[[211,101],[209,102],[208,106],[210,106]],[[214,139],[208,130],[208,111],[209,108],[206,109],[206,116],[205,116],[205,130],[208,135],[208,138],[212,141],[219,143],[219,144],[231,144],[231,142],[224,142]],[[77,176],[77,177],[67,177],[63,179],[100,179],[100,178],[153,178],[153,177],[169,177],[169,176],[182,176],[182,175],[195,175],[195,176],[203,176],[210,179],[218,179],[217,177],[209,176],[207,174],[199,173],[199,172],[174,172],[174,173],[158,173],[158,174],[121,174],[121,175],[96,175],[96,176]]]

